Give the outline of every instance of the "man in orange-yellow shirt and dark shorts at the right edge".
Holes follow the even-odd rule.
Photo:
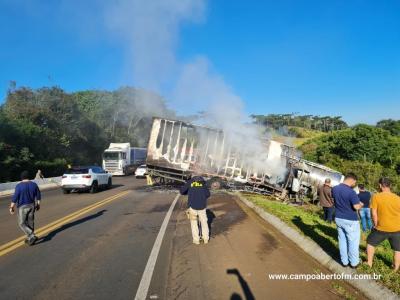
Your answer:
[[[379,180],[381,193],[372,198],[371,213],[374,228],[367,238],[368,265],[372,267],[375,247],[388,239],[394,250],[394,270],[400,267],[400,197],[390,190],[389,178]]]

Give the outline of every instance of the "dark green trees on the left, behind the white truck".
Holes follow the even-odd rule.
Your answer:
[[[146,147],[153,115],[174,117],[160,96],[131,87],[66,93],[12,86],[0,107],[0,181],[22,170],[46,177],[67,164],[100,164],[110,142]]]

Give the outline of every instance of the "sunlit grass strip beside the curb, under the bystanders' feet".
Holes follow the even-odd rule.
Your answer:
[[[322,220],[322,212],[319,207],[314,205],[290,206],[266,196],[248,193],[242,193],[242,195],[265,211],[277,216],[301,234],[311,238],[334,259],[339,259],[336,225],[328,224]],[[360,245],[362,260],[366,260],[365,239],[366,235],[362,234]],[[400,273],[392,271],[392,263],[393,252],[389,243],[385,241],[376,249],[373,268],[360,265],[357,272],[381,274],[382,277],[379,282],[393,292],[400,294]]]

